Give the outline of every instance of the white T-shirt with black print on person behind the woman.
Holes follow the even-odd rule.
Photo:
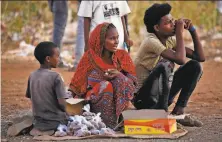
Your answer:
[[[124,29],[121,17],[131,11],[126,1],[81,1],[78,16],[90,17],[90,32],[103,22],[113,23],[119,34],[118,48],[124,49]]]

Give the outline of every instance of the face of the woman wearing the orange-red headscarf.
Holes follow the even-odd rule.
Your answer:
[[[116,28],[110,28],[106,32],[105,49],[110,52],[115,52],[117,50],[118,44],[119,44],[119,34]]]

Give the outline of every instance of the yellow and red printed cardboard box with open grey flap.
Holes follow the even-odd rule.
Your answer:
[[[177,130],[176,119],[164,110],[126,110],[123,117],[125,134],[170,134]]]

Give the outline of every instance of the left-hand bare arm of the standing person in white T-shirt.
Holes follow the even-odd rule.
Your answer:
[[[84,17],[84,38],[85,38],[85,49],[86,52],[88,48],[88,41],[89,41],[89,32],[90,32],[90,23],[91,18],[90,17]]]

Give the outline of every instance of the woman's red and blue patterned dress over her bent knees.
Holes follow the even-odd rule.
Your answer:
[[[106,126],[114,128],[119,115],[134,97],[133,81],[123,74],[106,81],[100,71],[93,70],[88,77],[88,85],[92,88],[86,94],[86,98],[90,99],[90,110],[100,112]]]

